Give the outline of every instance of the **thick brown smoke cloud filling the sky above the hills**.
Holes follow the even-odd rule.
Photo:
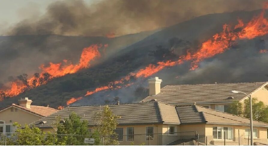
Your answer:
[[[265,0],[83,0],[56,1],[40,17],[23,19],[6,35],[125,35],[177,24],[197,16],[256,10]],[[29,6],[25,9],[36,10]],[[20,13],[22,10],[20,10]],[[38,18],[38,19],[36,19]]]

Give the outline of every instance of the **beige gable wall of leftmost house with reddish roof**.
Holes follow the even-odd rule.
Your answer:
[[[8,108],[4,111],[0,112],[0,120],[4,120],[6,124],[13,124],[18,122],[21,125],[30,124],[35,122],[36,120],[41,119],[42,117],[37,116],[35,114],[31,114],[27,111],[23,111],[18,108],[18,111],[11,112],[11,108]]]

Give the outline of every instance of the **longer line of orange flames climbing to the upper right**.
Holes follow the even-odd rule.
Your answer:
[[[166,61],[166,62],[158,62],[157,65],[150,64],[144,69],[140,69],[136,73],[130,73],[128,76],[125,76],[121,80],[114,81],[111,83],[114,84],[124,84],[124,80],[129,80],[130,76],[135,76],[137,78],[142,77],[146,78],[151,76],[152,74],[157,73],[158,71],[166,68],[172,67],[175,65],[180,65],[185,61],[191,62],[191,69],[195,70],[198,68],[199,63],[206,59],[213,57],[219,53],[223,53],[225,50],[230,48],[231,45],[236,40],[239,39],[253,39],[257,36],[263,36],[268,33],[268,21],[264,18],[265,9],[268,8],[268,3],[263,7],[263,11],[258,15],[253,17],[250,22],[246,25],[241,19],[238,19],[238,24],[235,25],[233,29],[242,28],[240,31],[231,30],[230,25],[224,24],[223,31],[221,33],[217,33],[212,36],[211,39],[206,40],[202,43],[201,47],[194,53],[187,53],[185,56],[181,56],[177,61]],[[266,53],[267,50],[261,50],[260,53]],[[113,88],[113,89],[118,89]],[[95,91],[87,91],[85,96],[89,96],[98,91],[108,90],[108,86],[103,86],[100,88],[96,88]]]

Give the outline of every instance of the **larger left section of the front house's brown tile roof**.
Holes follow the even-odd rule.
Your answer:
[[[30,125],[36,127],[50,127],[57,116],[68,118],[72,112],[81,117],[81,120],[87,120],[88,125],[95,125],[94,116],[104,105],[91,106],[69,106],[48,117],[44,117]],[[119,125],[126,124],[157,124],[157,123],[174,123],[179,124],[179,119],[175,106],[163,104],[160,102],[144,102],[120,105],[109,105],[113,114],[120,116],[117,119]],[[40,121],[46,121],[40,125]]]

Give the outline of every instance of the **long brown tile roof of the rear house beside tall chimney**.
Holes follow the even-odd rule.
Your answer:
[[[233,102],[234,100],[242,100],[246,97],[241,93],[230,93],[231,90],[243,91],[246,94],[250,94],[267,84],[268,82],[167,85],[161,88],[160,93],[146,97],[143,100],[150,101],[156,99],[158,102],[167,104]]]

